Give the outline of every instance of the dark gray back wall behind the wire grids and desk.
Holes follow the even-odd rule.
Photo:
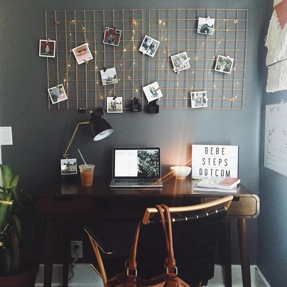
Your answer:
[[[162,109],[153,115],[128,111],[107,114],[113,134],[95,143],[82,127],[70,155],[80,161],[76,152],[79,147],[85,158],[96,164],[96,175],[109,175],[113,146],[159,146],[162,163],[168,167],[190,157],[192,143],[239,145],[241,182],[257,193],[264,87],[259,71],[264,59],[257,52],[260,39],[265,36],[262,27],[267,19],[266,3],[266,0],[1,1],[0,125],[12,126],[14,141],[13,146],[2,147],[3,162],[21,171],[20,183],[24,188],[41,192],[42,186],[58,179],[59,161],[76,124],[89,119],[88,114],[74,110],[48,110],[46,61],[38,57],[39,39],[45,38],[46,10],[143,8],[144,15],[148,15],[150,8],[244,8],[248,9],[248,44],[243,110]],[[256,262],[256,229],[256,220],[251,220],[251,264]],[[234,242],[237,246],[237,241]],[[239,263],[237,247],[234,253],[234,263]]]

